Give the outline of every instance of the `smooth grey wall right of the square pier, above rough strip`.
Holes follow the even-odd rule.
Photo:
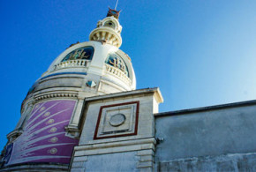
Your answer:
[[[155,161],[256,152],[256,105],[226,105],[155,115]],[[254,156],[255,160],[255,156]]]

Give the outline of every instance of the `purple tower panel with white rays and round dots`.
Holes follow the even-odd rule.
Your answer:
[[[5,165],[23,162],[70,163],[78,139],[65,136],[64,126],[72,117],[76,101],[44,101],[34,105],[24,132],[12,146]]]

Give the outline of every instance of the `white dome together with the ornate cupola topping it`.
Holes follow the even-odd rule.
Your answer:
[[[90,41],[72,44],[57,56],[31,89],[34,96],[65,86],[87,96],[134,90],[131,58],[118,49],[122,44],[118,17],[119,11],[109,9],[107,17],[91,32]]]

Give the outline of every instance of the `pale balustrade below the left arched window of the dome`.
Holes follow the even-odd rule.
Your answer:
[[[55,65],[55,70],[73,67],[87,67],[88,60],[68,60]]]

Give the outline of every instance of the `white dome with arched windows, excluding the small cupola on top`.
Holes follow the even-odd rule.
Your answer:
[[[59,77],[67,79],[67,75],[69,80],[66,80],[66,83],[63,79],[61,83],[58,81],[54,85],[67,86],[66,84],[72,83],[71,79],[76,79],[79,75],[85,82],[78,82],[78,85],[84,84],[85,86],[80,87],[85,92],[93,93],[92,95],[130,91],[136,88],[131,58],[116,46],[102,44],[99,41],[82,42],[66,49],[56,57],[39,81]],[[93,82],[94,86],[88,86],[89,81]],[[73,83],[75,82],[73,80]]]

